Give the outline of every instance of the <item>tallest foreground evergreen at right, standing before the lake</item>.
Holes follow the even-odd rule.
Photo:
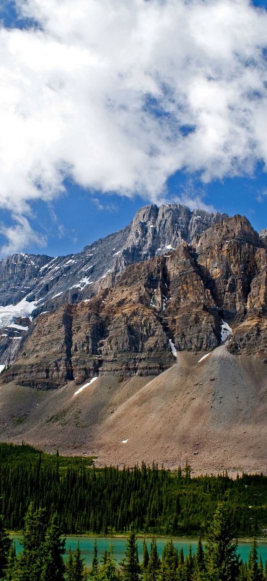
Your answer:
[[[236,543],[232,542],[229,517],[224,505],[215,511],[213,522],[207,535],[205,551],[206,581],[234,581],[239,569]]]

